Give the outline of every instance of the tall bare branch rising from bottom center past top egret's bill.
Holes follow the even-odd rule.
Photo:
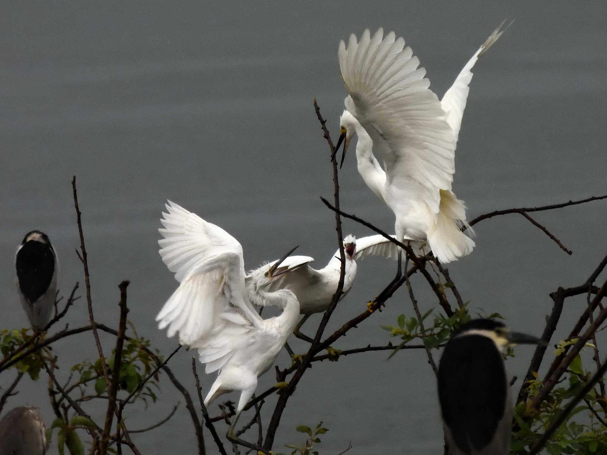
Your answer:
[[[331,135],[327,130],[327,121],[324,120],[324,118],[322,118],[322,115],[320,114],[320,109],[318,107],[318,104],[316,103],[316,98],[314,99],[314,111],[316,112],[316,116],[320,122],[320,127],[322,128],[323,136],[327,140],[330,149],[330,156],[332,157],[331,167],[333,168],[333,198],[335,206],[337,207],[337,210],[335,212],[335,230],[337,232],[337,248],[339,248],[339,259],[341,261],[341,269],[339,272],[339,282],[337,283],[337,289],[335,291],[335,294],[333,294],[333,298],[331,299],[331,304],[329,305],[329,308],[327,309],[327,311],[325,311],[325,314],[323,315],[322,320],[320,321],[320,324],[316,331],[316,335],[314,336],[314,341],[311,344],[310,349],[304,356],[304,359],[302,360],[293,377],[291,378],[288,386],[280,390],[279,398],[274,408],[274,413],[272,414],[272,417],[270,419],[270,425],[268,425],[268,430],[266,431],[265,442],[263,443],[263,448],[268,451],[271,450],[272,445],[274,444],[274,436],[276,435],[276,430],[280,423],[280,417],[282,417],[282,413],[285,410],[285,407],[287,406],[287,400],[289,399],[291,394],[293,394],[293,391],[297,386],[297,383],[299,383],[299,380],[302,378],[302,376],[304,376],[305,370],[310,365],[310,360],[312,359],[314,354],[318,352],[317,349],[319,349],[318,346],[320,343],[320,339],[322,338],[322,334],[325,330],[325,327],[327,326],[327,323],[329,322],[331,314],[333,314],[333,311],[337,306],[337,302],[339,302],[339,298],[343,294],[344,289],[345,252],[344,237],[342,235],[341,229],[341,217],[339,216],[339,176],[337,171],[337,160],[334,159],[335,147],[333,146],[333,141],[331,141]]]

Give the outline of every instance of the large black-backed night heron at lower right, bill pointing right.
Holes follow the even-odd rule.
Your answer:
[[[453,332],[438,368],[448,455],[509,453],[512,398],[502,352],[538,343],[544,342],[491,319],[472,320]]]

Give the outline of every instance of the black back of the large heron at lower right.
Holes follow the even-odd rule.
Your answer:
[[[492,340],[461,335],[447,343],[438,368],[438,399],[459,450],[469,454],[491,442],[506,397],[506,370]]]

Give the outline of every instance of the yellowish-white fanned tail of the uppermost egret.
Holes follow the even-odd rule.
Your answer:
[[[441,190],[436,224],[430,229],[427,237],[433,254],[442,263],[456,261],[472,252],[475,243],[472,238],[461,232],[462,226],[467,226],[466,232],[474,234],[466,223],[466,204],[452,192]]]

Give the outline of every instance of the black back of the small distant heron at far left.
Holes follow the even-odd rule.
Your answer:
[[[30,303],[36,302],[49,289],[55,273],[55,256],[50,243],[25,242],[16,258],[19,289]]]

